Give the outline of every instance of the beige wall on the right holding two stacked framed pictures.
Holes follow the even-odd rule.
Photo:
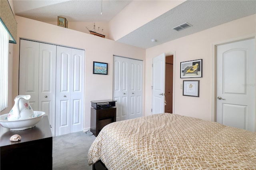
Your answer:
[[[214,121],[212,112],[214,45],[254,37],[255,25],[256,15],[252,15],[146,49],[145,114],[150,115],[152,108],[152,58],[161,53],[174,53],[174,113]],[[203,59],[203,77],[181,79],[180,62],[194,59]],[[200,80],[200,97],[183,96],[180,89],[183,80]]]

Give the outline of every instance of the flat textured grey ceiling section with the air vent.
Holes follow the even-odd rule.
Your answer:
[[[255,0],[188,0],[117,41],[146,49],[252,14],[256,14]],[[185,22],[192,27],[172,29]]]

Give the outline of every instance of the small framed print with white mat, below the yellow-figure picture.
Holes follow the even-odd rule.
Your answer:
[[[184,80],[183,95],[199,97],[199,80]]]

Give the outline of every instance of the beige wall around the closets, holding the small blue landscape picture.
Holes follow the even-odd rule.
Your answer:
[[[16,16],[16,20],[18,22],[18,39],[25,38],[85,49],[85,129],[90,128],[90,101],[112,99],[113,55],[145,59],[145,49],[20,16]],[[12,99],[18,95],[19,45],[18,40],[13,50]],[[93,61],[108,63],[108,75],[92,74]],[[5,109],[6,113],[9,111]]]

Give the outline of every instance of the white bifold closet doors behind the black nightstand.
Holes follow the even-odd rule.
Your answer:
[[[142,117],[143,61],[114,56],[116,121]]]

